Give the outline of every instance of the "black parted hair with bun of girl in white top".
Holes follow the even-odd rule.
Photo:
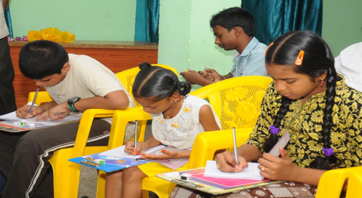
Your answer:
[[[171,97],[174,92],[181,96],[187,96],[191,90],[191,84],[180,82],[177,75],[169,70],[158,66],[151,66],[148,63],[139,65],[140,71],[136,75],[132,86],[132,94],[135,98],[152,98],[153,101],[160,101]]]

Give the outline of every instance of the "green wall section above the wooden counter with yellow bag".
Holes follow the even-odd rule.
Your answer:
[[[49,27],[77,40],[134,41],[136,0],[10,0],[14,37]]]

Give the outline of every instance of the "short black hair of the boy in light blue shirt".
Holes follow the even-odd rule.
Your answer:
[[[243,8],[233,7],[224,9],[211,16],[210,26],[220,25],[229,32],[235,27],[241,27],[249,37],[254,36],[254,17]]]

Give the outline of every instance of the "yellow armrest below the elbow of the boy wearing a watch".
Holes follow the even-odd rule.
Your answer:
[[[114,110],[107,109],[87,109],[80,119],[75,144],[71,153],[71,158],[82,156],[89,136],[90,128],[94,118],[112,117]]]

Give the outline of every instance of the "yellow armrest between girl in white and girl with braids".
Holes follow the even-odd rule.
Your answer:
[[[237,146],[241,146],[253,130],[252,127],[236,129]],[[207,131],[198,134],[192,147],[188,168],[204,167],[212,160],[215,151],[233,147],[232,130]]]

